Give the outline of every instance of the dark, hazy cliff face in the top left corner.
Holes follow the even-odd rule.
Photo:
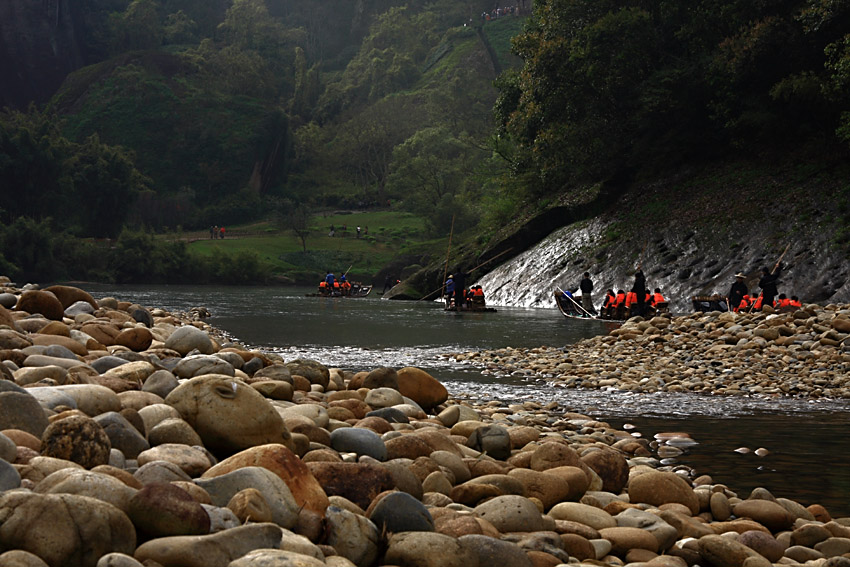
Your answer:
[[[0,2],[0,107],[46,102],[82,67],[81,26],[73,0]]]

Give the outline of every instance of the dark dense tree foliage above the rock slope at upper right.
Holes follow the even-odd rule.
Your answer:
[[[847,141],[850,5],[538,0],[496,105],[540,191]]]

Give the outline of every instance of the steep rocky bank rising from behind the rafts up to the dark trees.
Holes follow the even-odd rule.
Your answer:
[[[822,158],[683,170],[550,209],[463,265],[495,258],[473,274],[488,303],[552,307],[556,286],[578,287],[584,271],[598,302],[608,288],[630,287],[642,263],[648,286],[660,287],[674,311],[687,311],[694,295],[725,295],[739,271],[757,293],[760,269],[773,267],[788,246],[780,292],[846,302],[846,179],[846,166]],[[437,281],[443,270],[436,264],[411,278],[408,290]]]

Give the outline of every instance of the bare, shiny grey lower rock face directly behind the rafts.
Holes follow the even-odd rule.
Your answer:
[[[554,307],[553,292],[575,290],[585,271],[594,282],[594,304],[609,288],[628,291],[634,269],[643,263],[648,288],[660,287],[676,312],[692,310],[694,295],[726,295],[737,272],[747,275],[758,294],[759,272],[783,258],[779,292],[803,302],[850,301],[850,261],[830,241],[831,232],[791,221],[751,226],[743,241],[713,232],[658,227],[647,240],[619,239],[604,244],[609,220],[597,218],[560,228],[536,246],[477,281],[490,305]],[[787,240],[782,239],[785,235]],[[790,246],[789,246],[790,244]]]

